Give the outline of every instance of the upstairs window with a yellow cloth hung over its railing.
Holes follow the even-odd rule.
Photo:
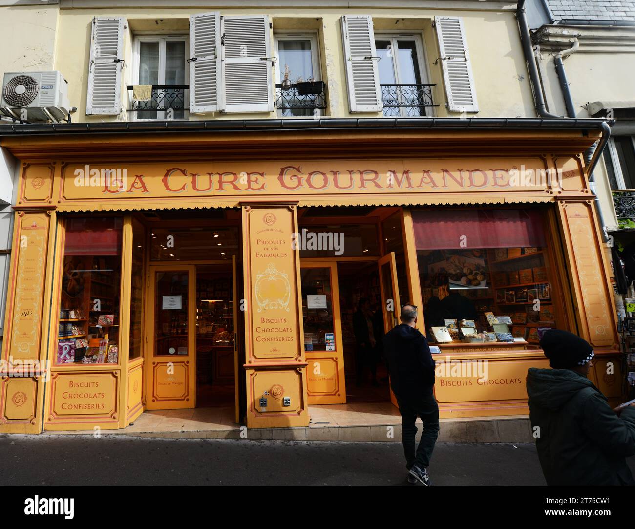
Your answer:
[[[130,94],[137,119],[184,119],[189,103],[187,37],[135,40],[135,83]],[[149,87],[152,88],[149,88]]]

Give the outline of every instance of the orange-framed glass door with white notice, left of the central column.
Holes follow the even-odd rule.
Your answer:
[[[150,265],[146,342],[150,354],[146,408],[196,405],[196,298],[194,266]]]

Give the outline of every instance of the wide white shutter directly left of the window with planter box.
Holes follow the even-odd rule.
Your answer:
[[[269,17],[222,17],[225,112],[274,109]]]

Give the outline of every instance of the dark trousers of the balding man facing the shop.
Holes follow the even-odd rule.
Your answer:
[[[424,469],[430,464],[434,443],[439,436],[439,405],[434,395],[410,399],[397,397],[397,403],[401,413],[401,443],[403,443],[403,452],[406,456],[406,468],[410,470],[410,467],[416,463],[420,469]],[[417,417],[423,421],[424,431],[415,452]]]

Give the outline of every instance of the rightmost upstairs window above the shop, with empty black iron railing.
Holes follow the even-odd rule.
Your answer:
[[[424,51],[418,35],[375,35],[379,83],[384,116],[426,116],[432,104],[431,86],[424,69]]]

